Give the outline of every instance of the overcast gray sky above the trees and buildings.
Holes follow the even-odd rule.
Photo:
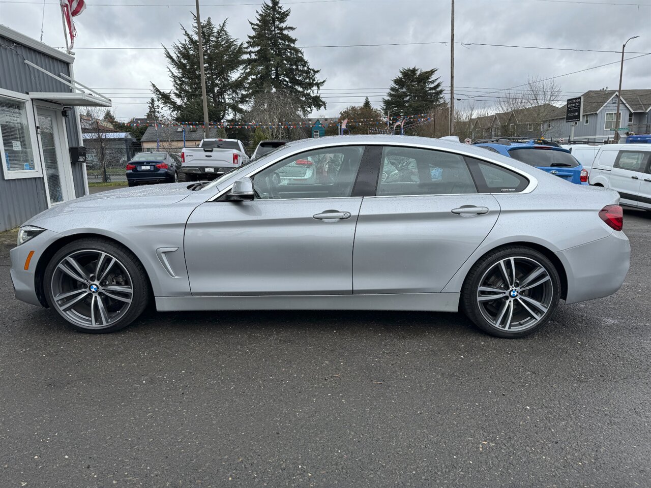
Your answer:
[[[144,116],[150,81],[170,88],[161,49],[84,47],[171,46],[180,23],[191,25],[194,0],[87,0],[76,18],[75,76],[113,100],[118,118]],[[202,18],[229,19],[230,33],[245,41],[260,0],[201,0]],[[64,46],[59,0],[0,0],[0,23]],[[336,116],[368,96],[374,106],[403,66],[438,68],[449,96],[450,0],[286,0],[298,46],[441,42],[412,46],[306,47],[305,57],[321,70],[327,109]],[[651,53],[651,0],[456,0],[457,43],[562,47],[611,53],[519,49],[455,44],[455,98],[463,107],[490,109],[501,88],[531,76],[553,77],[600,64],[602,68],[556,79],[564,98],[587,90],[616,89],[620,49],[626,58]],[[651,88],[651,55],[624,64],[623,89]],[[488,92],[488,93],[486,93]],[[128,98],[135,97],[135,98]],[[474,98],[473,98],[474,97]],[[473,98],[473,101],[469,99]],[[317,115],[314,113],[313,115]]]

